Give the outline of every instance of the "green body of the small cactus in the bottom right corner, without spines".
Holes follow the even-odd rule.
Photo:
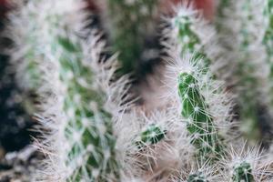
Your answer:
[[[233,167],[232,181],[233,182],[242,182],[242,181],[255,182],[254,177],[252,175],[251,166],[248,162],[243,161]]]

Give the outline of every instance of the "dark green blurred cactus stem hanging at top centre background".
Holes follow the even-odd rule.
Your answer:
[[[139,61],[148,34],[155,34],[158,0],[105,0],[106,20],[114,52],[118,52],[122,74],[139,71]]]

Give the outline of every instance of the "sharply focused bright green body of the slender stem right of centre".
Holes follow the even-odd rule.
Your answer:
[[[221,151],[213,116],[209,114],[204,96],[200,93],[197,78],[190,73],[178,76],[178,94],[181,99],[181,114],[187,118],[187,131],[197,147],[197,158],[204,162],[217,157]]]

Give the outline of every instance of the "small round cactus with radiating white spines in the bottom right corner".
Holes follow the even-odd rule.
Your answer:
[[[261,151],[260,147],[247,147],[246,143],[240,147],[229,147],[227,156],[221,161],[224,169],[225,181],[270,181],[272,177],[268,162],[271,159]]]

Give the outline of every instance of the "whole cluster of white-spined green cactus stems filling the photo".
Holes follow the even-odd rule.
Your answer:
[[[154,101],[161,105],[149,110],[134,102],[130,75],[119,71],[139,69],[158,1],[105,4],[107,44],[89,27],[84,1],[15,1],[9,15],[6,34],[15,42],[9,53],[18,85],[36,95],[25,98],[25,110],[40,122],[37,145],[45,152],[35,179],[273,180],[268,148],[249,150],[253,141],[264,142],[260,126],[271,118],[273,1],[223,0],[215,24],[193,5],[178,5],[163,31],[164,86]],[[253,30],[256,25],[263,30]],[[109,56],[106,45],[118,54]],[[227,77],[219,65],[227,66]],[[263,108],[267,119],[260,116]]]

